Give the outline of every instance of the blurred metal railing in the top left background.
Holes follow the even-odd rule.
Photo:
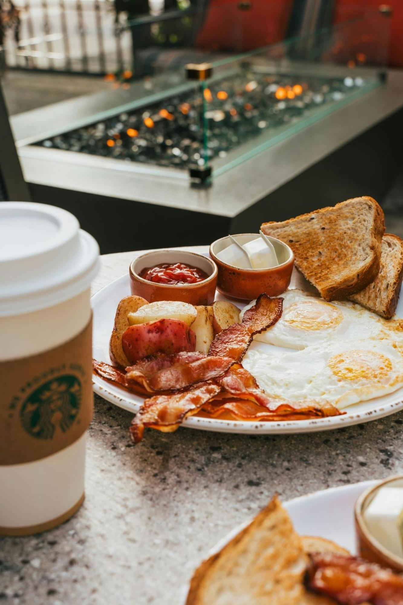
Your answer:
[[[133,62],[131,33],[110,0],[14,0],[4,29],[3,67],[116,73]]]

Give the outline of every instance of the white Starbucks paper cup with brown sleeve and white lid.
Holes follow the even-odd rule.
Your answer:
[[[0,203],[0,534],[49,529],[84,500],[98,266],[69,212]]]

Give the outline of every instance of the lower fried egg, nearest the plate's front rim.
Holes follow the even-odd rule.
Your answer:
[[[387,340],[327,340],[292,352],[252,348],[242,363],[269,396],[339,409],[403,386],[402,352]]]

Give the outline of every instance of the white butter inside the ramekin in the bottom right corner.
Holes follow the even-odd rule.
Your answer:
[[[403,488],[379,488],[364,511],[370,534],[388,551],[403,557]]]

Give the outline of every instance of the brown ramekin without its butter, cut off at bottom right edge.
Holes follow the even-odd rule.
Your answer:
[[[388,551],[378,542],[378,540],[375,540],[370,534],[364,519],[364,511],[372,502],[378,489],[385,485],[390,487],[393,483],[395,483],[395,486],[403,488],[403,475],[396,475],[394,477],[389,477],[389,479],[385,479],[384,481],[380,481],[373,487],[365,489],[359,496],[354,508],[355,530],[357,552],[360,557],[367,561],[372,561],[372,563],[378,563],[383,567],[390,567],[401,573],[403,571],[403,558]]]

